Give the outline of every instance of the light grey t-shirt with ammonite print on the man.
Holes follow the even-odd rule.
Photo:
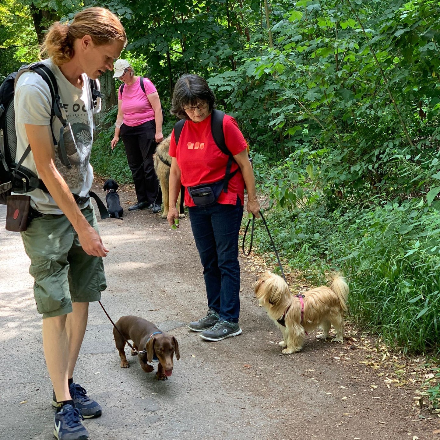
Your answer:
[[[93,113],[101,109],[100,99],[98,98],[97,106],[93,109],[92,90],[88,77],[84,73],[82,75],[84,85],[80,89],[64,77],[59,67],[55,66],[51,59],[46,59],[43,62],[55,75],[62,109],[65,112],[63,116],[67,116],[75,139],[75,142],[73,142],[71,137],[70,139],[69,136],[64,137],[66,154],[72,165],[72,168],[68,169],[62,164],[58,151],[59,131],[62,124],[57,117],[54,117],[53,133],[58,143],[56,147],[52,145],[55,149],[55,165],[69,186],[70,191],[81,197],[86,196],[93,182],[93,169],[89,159],[93,141]],[[22,157],[29,145],[25,124],[50,125],[51,103],[49,87],[38,73],[24,72],[20,75],[15,85],[14,96],[15,129],[17,132],[16,160]],[[35,167],[32,151],[22,165],[37,174],[39,179],[41,178]],[[31,206],[40,213],[62,214],[61,209],[56,205],[50,194],[35,189],[27,195],[31,197]],[[80,206],[81,209],[83,207],[84,205]]]

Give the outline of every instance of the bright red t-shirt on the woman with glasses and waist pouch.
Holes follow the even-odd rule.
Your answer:
[[[232,155],[247,148],[246,139],[238,128],[237,121],[229,115],[223,119],[223,132],[226,147]],[[229,156],[224,154],[214,141],[211,132],[211,115],[201,122],[186,121],[180,133],[179,147],[176,146],[174,130],[171,134],[169,155],[176,158],[181,171],[180,180],[184,187],[194,187],[202,183],[213,183],[224,179]],[[236,162],[232,163],[231,173],[238,169]],[[221,192],[218,203],[235,205],[237,196],[243,205],[245,182],[240,170],[229,180],[227,193]],[[185,191],[185,204],[195,206]]]

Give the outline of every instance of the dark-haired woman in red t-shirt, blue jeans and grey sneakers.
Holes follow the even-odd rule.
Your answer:
[[[238,231],[243,216],[244,188],[248,193],[246,209],[259,216],[252,165],[247,143],[237,122],[231,116],[223,118],[223,133],[227,149],[234,157],[227,192],[221,191],[216,202],[196,205],[188,188],[199,185],[222,187],[229,156],[214,141],[211,131],[215,96],[208,83],[198,75],[184,75],[174,88],[172,113],[185,119],[176,145],[174,130],[169,154],[169,224],[179,218],[176,209],[181,184],[186,187],[191,229],[203,265],[208,313],[188,327],[208,341],[221,341],[242,333],[240,314],[240,266],[238,263]],[[220,182],[220,183],[219,183]],[[220,186],[219,186],[220,185]],[[209,191],[208,191],[209,192]]]

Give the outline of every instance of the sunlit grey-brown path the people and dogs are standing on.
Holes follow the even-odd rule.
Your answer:
[[[98,183],[95,191],[102,191]],[[397,361],[376,362],[361,335],[348,330],[338,345],[309,334],[302,352],[282,355],[278,330],[253,296],[258,268],[251,259],[241,260],[242,335],[209,343],[190,332],[186,323],[205,313],[206,298],[189,219],[172,231],[158,214],[128,212],[132,187],[119,194],[125,220],[99,225],[111,249],[103,304],[114,320],[139,315],[175,335],[181,359],[165,382],[144,373],[135,357],[121,369],[112,326],[92,304],[75,375],[103,406],[102,417],[85,422],[92,440],[440,438],[440,418],[415,407],[417,384],[396,386]],[[0,206],[1,438],[51,439],[33,281],[21,239],[4,230],[4,217]]]

